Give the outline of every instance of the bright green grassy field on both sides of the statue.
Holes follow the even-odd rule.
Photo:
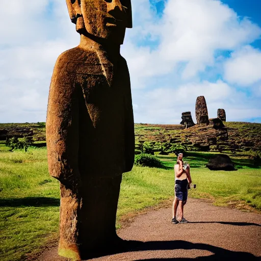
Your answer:
[[[22,260],[58,238],[59,182],[47,171],[46,148],[9,152],[0,144],[0,256],[2,261]],[[190,152],[197,189],[191,197],[212,198],[216,204],[242,205],[261,210],[261,169],[246,159],[233,159],[240,169],[233,172],[204,168],[212,155]],[[134,167],[123,175],[117,227],[130,213],[156,205],[173,196],[174,156],[161,156],[166,169]],[[170,213],[171,219],[171,213]]]

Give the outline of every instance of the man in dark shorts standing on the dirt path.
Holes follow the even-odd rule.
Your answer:
[[[183,166],[183,154],[179,153],[177,164],[174,166],[175,172],[175,199],[173,201],[173,217],[172,224],[177,223],[188,223],[188,221],[184,218],[184,205],[187,203],[188,198],[188,185],[192,183],[190,176],[190,167],[187,166],[186,170],[184,170]],[[181,213],[181,219],[176,219],[177,210]]]

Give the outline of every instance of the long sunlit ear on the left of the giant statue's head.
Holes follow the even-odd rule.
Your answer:
[[[85,30],[84,18],[81,11],[81,0],[66,0],[71,21],[76,24],[76,31],[81,34]]]

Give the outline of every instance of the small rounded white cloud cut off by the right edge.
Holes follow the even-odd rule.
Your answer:
[[[232,84],[251,86],[261,80],[261,50],[247,45],[234,51],[224,64],[224,79]]]

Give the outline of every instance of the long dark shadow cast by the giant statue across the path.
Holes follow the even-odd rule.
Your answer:
[[[140,241],[122,241],[122,243],[115,247],[114,249],[107,249],[103,252],[93,253],[88,258],[97,258],[101,256],[114,255],[119,253],[127,252],[138,252],[138,251],[155,251],[155,250],[177,250],[177,249],[198,249],[210,251],[213,254],[209,256],[201,256],[195,258],[149,258],[142,260],[261,260],[260,257],[256,257],[248,252],[237,252],[231,251],[224,248],[216,247],[208,244],[201,243],[191,243],[188,241],[149,241],[149,242],[140,242]],[[139,260],[139,259],[136,259]]]

